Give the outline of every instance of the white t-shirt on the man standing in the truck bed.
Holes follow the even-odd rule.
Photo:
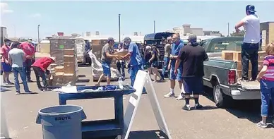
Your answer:
[[[249,15],[242,19],[244,22],[244,42],[246,43],[258,43],[261,40],[260,35],[260,20],[257,15]]]

